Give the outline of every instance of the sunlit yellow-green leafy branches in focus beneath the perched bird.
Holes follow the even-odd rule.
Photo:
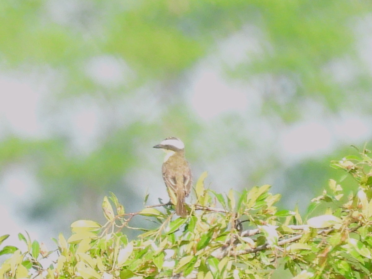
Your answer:
[[[205,189],[203,173],[195,185],[196,203],[187,218],[176,218],[167,204],[126,213],[116,196],[103,199],[105,225],[90,220],[71,224],[66,240],[48,251],[29,235],[19,234],[27,251],[5,246],[10,257],[0,267],[3,278],[267,278],[279,266],[294,278],[365,278],[372,270],[372,159],[333,161],[359,183],[359,189],[336,209],[312,216],[318,205],[339,202],[344,191],[335,180],[312,199],[307,214],[278,210],[280,195],[270,186],[253,187],[227,195]],[[155,207],[162,207],[163,210]],[[332,206],[334,208],[334,206]],[[131,227],[144,216],[153,229]],[[142,234],[129,240],[126,227]],[[0,244],[9,235],[0,237]],[[49,266],[41,263],[51,259]]]

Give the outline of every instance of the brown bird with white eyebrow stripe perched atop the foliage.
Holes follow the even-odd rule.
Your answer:
[[[176,214],[185,218],[185,198],[189,195],[192,184],[190,166],[185,158],[185,144],[178,138],[170,137],[154,148],[161,148],[166,153],[161,168],[163,179],[170,202],[176,206]]]

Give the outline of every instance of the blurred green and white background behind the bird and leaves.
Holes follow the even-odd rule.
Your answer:
[[[2,0],[0,235],[168,201],[169,136],[195,181],[305,211],[372,137],[371,77],[371,1]]]

